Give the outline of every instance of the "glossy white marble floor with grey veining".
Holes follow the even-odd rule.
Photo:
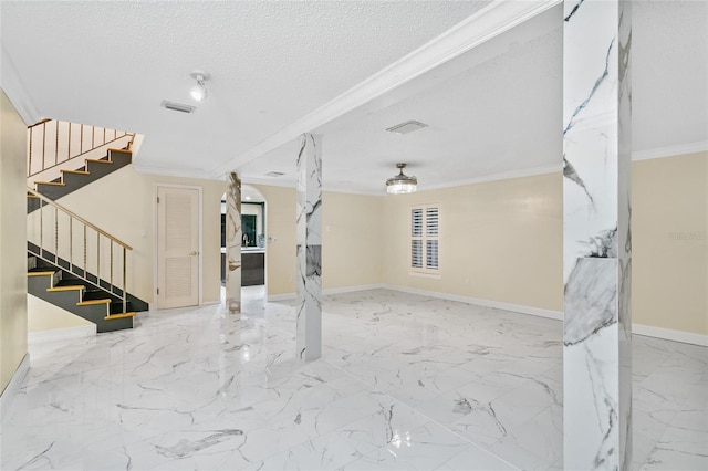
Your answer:
[[[31,346],[2,470],[562,469],[561,323],[394,291],[326,296],[323,358],[292,302],[244,290],[137,328]],[[634,468],[708,469],[708,348],[634,337]]]

